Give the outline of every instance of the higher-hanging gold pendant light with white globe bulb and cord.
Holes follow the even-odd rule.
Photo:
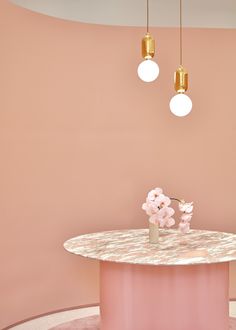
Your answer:
[[[147,32],[142,39],[142,61],[138,66],[138,76],[142,81],[152,82],[159,75],[159,66],[151,60],[155,55],[155,40],[149,33],[149,0],[147,0]]]

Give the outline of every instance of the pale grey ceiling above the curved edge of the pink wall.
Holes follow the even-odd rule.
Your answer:
[[[32,11],[84,23],[145,26],[146,0],[10,0]],[[178,26],[179,0],[149,0],[150,25]],[[183,0],[183,25],[236,28],[236,0]]]

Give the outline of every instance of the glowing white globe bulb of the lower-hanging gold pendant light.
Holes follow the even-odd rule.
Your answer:
[[[170,100],[170,111],[178,117],[184,117],[190,113],[192,105],[191,99],[187,95],[180,93],[173,96]]]

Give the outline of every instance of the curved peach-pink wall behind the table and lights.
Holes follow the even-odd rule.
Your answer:
[[[0,327],[98,301],[98,264],[63,242],[145,227],[153,186],[195,201],[193,227],[236,231],[236,30],[184,33],[193,112],[170,114],[178,31],[60,21],[0,2]],[[236,267],[231,297],[236,297]]]

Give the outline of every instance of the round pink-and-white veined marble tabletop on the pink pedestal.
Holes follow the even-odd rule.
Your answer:
[[[191,265],[236,260],[236,234],[160,229],[158,244],[150,244],[148,229],[80,235],[64,243],[67,251],[93,259],[142,265]]]

